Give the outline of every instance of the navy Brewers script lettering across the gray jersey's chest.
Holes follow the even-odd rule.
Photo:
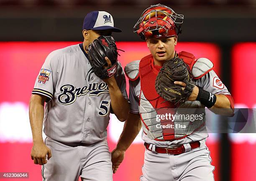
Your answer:
[[[72,84],[64,84],[60,87],[60,92],[62,94],[58,96],[58,101],[64,105],[72,104],[81,95],[99,96],[100,94],[109,93],[108,85],[105,82],[94,82],[78,88]]]

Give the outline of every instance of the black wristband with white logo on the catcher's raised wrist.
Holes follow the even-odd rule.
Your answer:
[[[212,107],[217,100],[216,95],[202,89],[201,87],[198,87],[198,89],[199,92],[196,101],[200,101],[202,104],[205,105],[205,107]]]

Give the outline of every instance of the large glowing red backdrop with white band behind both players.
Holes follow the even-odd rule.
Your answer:
[[[41,180],[41,166],[34,165],[30,157],[32,134],[28,119],[28,102],[46,56],[53,50],[77,43],[79,42],[0,42],[0,172],[29,172],[29,179],[19,181]],[[120,52],[118,59],[123,67],[128,62],[140,60],[149,54],[145,42],[117,42],[117,46],[125,50]],[[220,50],[215,44],[179,42],[176,50],[191,52],[197,58],[209,58],[221,78]],[[110,150],[115,148],[122,129],[123,123],[112,115],[108,126]],[[207,146],[211,151],[212,164],[216,167],[215,180],[219,177],[218,144],[218,135],[210,134]],[[114,174],[114,181],[139,180],[144,150],[143,142],[140,136],[137,136],[126,152],[123,164]]]

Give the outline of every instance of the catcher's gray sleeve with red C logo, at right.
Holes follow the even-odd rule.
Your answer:
[[[213,94],[230,95],[230,92],[228,91],[227,87],[220,80],[220,78],[214,72],[214,70],[211,70],[210,72],[208,72],[201,79],[202,79],[202,82],[200,83],[200,86],[202,87],[202,89],[208,92],[211,92]]]

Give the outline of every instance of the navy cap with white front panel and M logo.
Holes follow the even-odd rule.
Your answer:
[[[122,32],[114,27],[113,17],[105,11],[92,11],[84,17],[83,30],[112,30]]]

